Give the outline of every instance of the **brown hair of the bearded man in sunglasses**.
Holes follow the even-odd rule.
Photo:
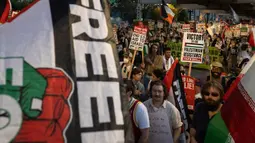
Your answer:
[[[215,80],[212,80],[212,81],[208,81],[207,83],[204,84],[204,86],[202,87],[201,89],[201,94],[202,96],[205,95],[205,93],[211,88],[215,88],[219,91],[220,93],[220,97],[222,98],[224,96],[224,89],[222,87],[222,85],[218,82],[218,81],[215,81]]]

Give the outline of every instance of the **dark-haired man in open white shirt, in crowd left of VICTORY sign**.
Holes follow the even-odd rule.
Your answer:
[[[165,48],[164,55],[163,55],[163,69],[168,71],[172,64],[174,63],[174,58],[171,56],[171,49]]]

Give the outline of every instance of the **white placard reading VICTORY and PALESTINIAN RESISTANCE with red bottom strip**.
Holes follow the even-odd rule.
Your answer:
[[[182,42],[182,62],[202,63],[204,37],[201,33],[185,32]]]

